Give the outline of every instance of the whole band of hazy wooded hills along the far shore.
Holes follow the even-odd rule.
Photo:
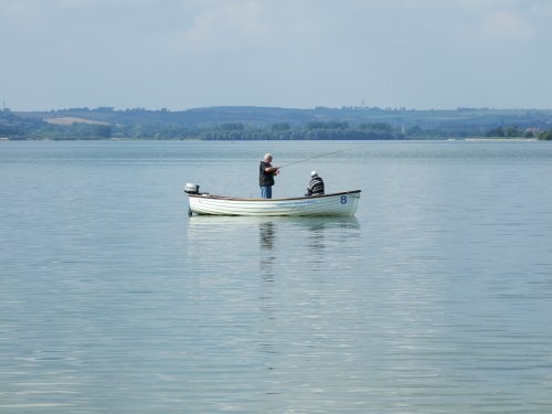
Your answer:
[[[0,137],[205,141],[552,140],[552,110],[342,107],[209,107],[181,112],[112,107],[0,112]]]

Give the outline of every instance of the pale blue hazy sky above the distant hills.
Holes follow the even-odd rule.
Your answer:
[[[0,103],[552,108],[552,0],[0,0]]]

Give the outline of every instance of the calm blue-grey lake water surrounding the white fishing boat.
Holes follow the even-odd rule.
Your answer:
[[[257,164],[354,217],[187,216]],[[0,142],[1,413],[551,413],[552,145]]]

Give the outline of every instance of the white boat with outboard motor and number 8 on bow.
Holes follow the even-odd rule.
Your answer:
[[[288,199],[246,199],[200,193],[199,185],[185,184],[189,215],[354,215],[360,190]]]

